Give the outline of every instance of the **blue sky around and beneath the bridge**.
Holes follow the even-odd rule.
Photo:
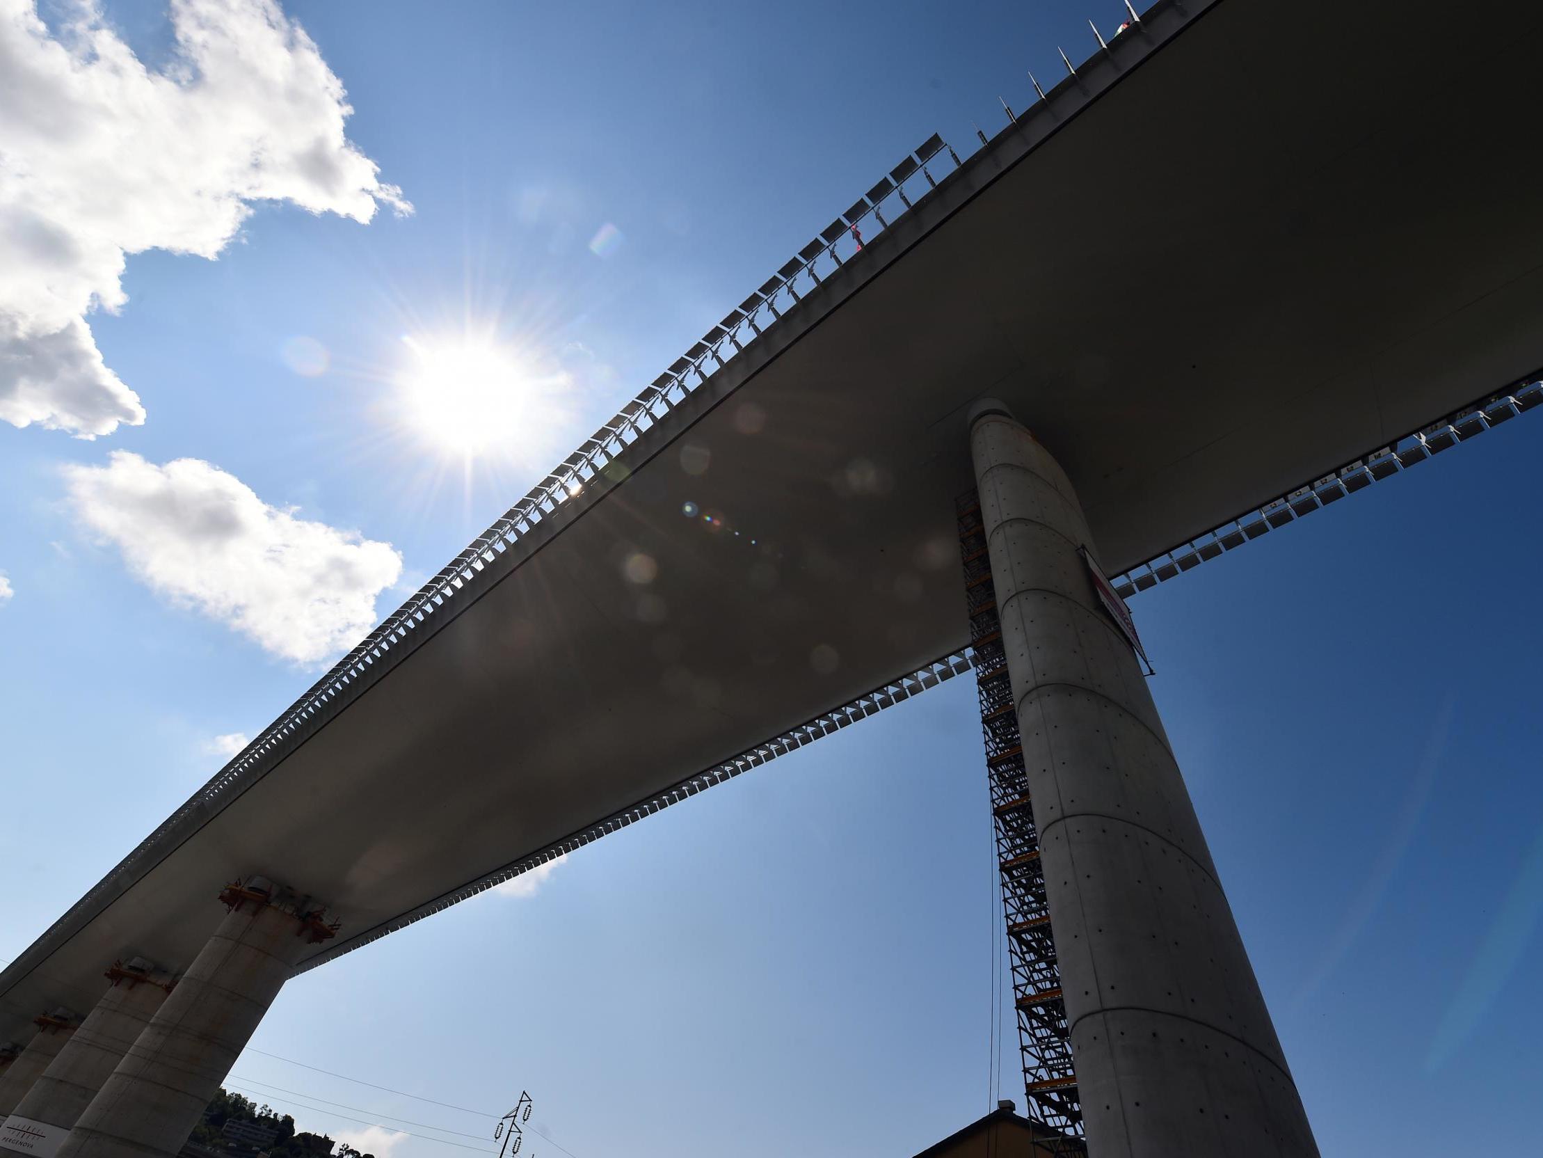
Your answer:
[[[12,25],[17,8],[0,3]],[[43,239],[23,255],[42,273],[0,272],[0,340],[42,358],[65,335],[94,389],[45,429],[15,425],[43,395],[6,403],[0,381],[0,960],[214,772],[221,736],[267,724],[319,655],[906,151],[934,131],[967,147],[972,120],[994,131],[998,94],[1028,103],[1026,68],[1055,76],[1058,43],[1086,56],[1086,20],[1108,32],[1122,11],[290,3],[315,48],[270,45],[293,69],[282,100],[210,85],[136,124],[153,102],[114,113],[68,90],[108,136],[156,147],[88,134],[85,159],[39,164],[46,198],[0,184],[0,213],[46,210],[80,242],[11,232]],[[69,6],[43,15],[73,36]],[[173,63],[165,12],[105,20],[150,69]],[[326,69],[353,108],[346,141]],[[131,71],[100,99],[140,91]],[[46,153],[8,137],[17,124],[0,116],[0,153]],[[219,151],[252,141],[272,170],[255,184],[245,154]],[[231,221],[231,199],[250,215]],[[145,252],[82,337],[80,293],[116,284],[103,239]],[[415,346],[468,334],[543,383],[520,437],[471,465],[426,437],[401,384],[421,374]],[[71,437],[133,417],[86,343],[143,425]],[[1325,1153],[1452,1130],[1535,1146],[1540,449],[1543,420],[1524,417],[1133,601]],[[190,543],[147,493],[184,516],[219,497],[253,550],[315,553],[352,602],[316,611],[315,585],[275,587],[239,553],[190,577]],[[998,1093],[1021,1102],[1011,1030],[1009,1076],[988,1081],[1000,937],[972,713],[967,681],[944,686],[583,849],[529,896],[483,896],[302,976],[231,1085],[333,1136],[366,1129],[349,1118],[492,1122],[296,1061],[494,1113],[528,1087],[554,1139],[535,1152],[580,1158],[904,1155]]]

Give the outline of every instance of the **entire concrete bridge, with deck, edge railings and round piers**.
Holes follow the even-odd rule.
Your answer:
[[[182,1110],[128,1107],[167,1058],[196,1102],[289,971],[974,665],[1009,908],[1038,906],[1014,933],[1031,1104],[1094,1153],[1264,1136],[1316,1153],[1225,900],[1205,936],[1234,956],[1207,1031],[1258,1055],[1247,1076],[1079,1044],[1123,1007],[1079,1007],[1071,979],[1120,968],[1128,945],[1066,960],[1072,900],[1051,886],[1046,903],[1043,872],[1020,869],[1103,857],[1117,886],[1097,903],[1129,928],[1153,885],[1108,849],[1042,849],[1045,815],[1012,820],[1037,775],[1017,729],[1082,686],[1023,656],[1094,641],[1086,687],[1150,746],[1136,659],[1108,652],[1114,608],[1051,540],[1086,545],[1129,596],[1538,405],[1543,159],[1528,45],[1503,36],[1517,8],[1159,0],[1035,79],[978,148],[929,137],[0,974],[0,1041],[25,1045],[0,1078],[0,1146],[173,1153]],[[966,574],[989,567],[966,581],[972,534]],[[1083,605],[1072,642],[1021,619],[1045,590]],[[1171,757],[1131,760],[1163,786],[1159,835],[1204,877]],[[188,1008],[210,994],[250,1008],[202,1025],[216,1045],[199,1053]],[[88,1039],[89,1078],[49,1095]],[[1193,1095],[1237,1121],[1139,1115],[1133,1072],[1157,1082],[1148,1106]]]

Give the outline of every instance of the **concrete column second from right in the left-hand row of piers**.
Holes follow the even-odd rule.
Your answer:
[[[54,1158],[173,987],[170,974],[139,957],[114,962],[106,979],[106,994],[0,1126],[0,1155]]]

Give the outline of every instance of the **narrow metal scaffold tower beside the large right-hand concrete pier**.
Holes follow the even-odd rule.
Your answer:
[[[1057,1149],[1083,1153],[1082,1104],[1072,1070],[1066,1002],[1045,899],[1040,841],[1023,767],[1018,710],[1012,701],[1008,658],[997,619],[997,590],[986,553],[986,530],[975,491],[957,502],[960,557],[969,608],[975,687],[986,741],[986,774],[1001,871],[1003,916],[1008,925],[1008,960],[1023,1055],[1023,1093],[1034,1118],[1057,1130]]]

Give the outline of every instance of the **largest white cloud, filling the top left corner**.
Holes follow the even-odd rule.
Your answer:
[[[214,258],[255,201],[369,221],[412,207],[347,141],[343,82],[275,0],[171,0],[147,69],[96,0],[0,0],[0,420],[83,438],[145,420],[85,321],[130,253]]]

